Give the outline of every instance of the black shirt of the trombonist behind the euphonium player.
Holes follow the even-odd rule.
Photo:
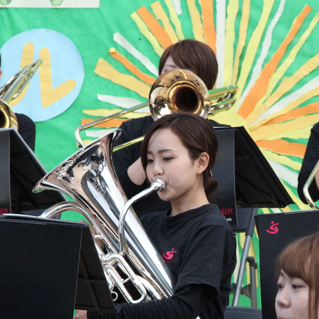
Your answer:
[[[221,125],[215,121],[209,121],[214,127],[229,127],[228,125]],[[114,146],[118,146],[144,136],[153,123],[154,120],[151,115],[123,122],[120,126],[122,134],[115,141]],[[122,188],[129,199],[150,186],[148,181],[145,181],[142,185],[136,185],[128,175],[128,168],[141,156],[141,148],[142,143],[137,143],[120,151],[114,152],[112,155],[115,171]],[[153,211],[166,211],[171,206],[170,202],[161,200],[158,193],[153,192],[138,200],[132,207],[138,217],[140,217]]]

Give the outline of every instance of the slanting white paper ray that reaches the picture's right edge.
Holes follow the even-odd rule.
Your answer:
[[[287,106],[290,102],[296,101],[299,99],[302,95],[305,93],[317,88],[319,85],[319,75],[310,80],[308,83],[306,83],[303,87],[296,90],[295,92],[291,93],[290,95],[286,96],[285,98],[279,100],[276,102],[273,106],[271,106],[267,111],[265,111],[254,123],[251,125],[257,123],[258,121],[265,119],[272,115],[273,113],[282,110],[285,106]],[[251,126],[250,125],[250,126]]]

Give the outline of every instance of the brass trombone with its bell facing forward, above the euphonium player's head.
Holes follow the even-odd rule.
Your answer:
[[[151,115],[156,121],[166,114],[174,112],[192,112],[206,118],[221,111],[228,110],[236,101],[234,95],[237,85],[229,85],[208,91],[204,82],[194,73],[187,70],[172,70],[160,75],[151,87],[149,102],[133,106],[102,119],[78,126],[74,135],[78,148],[84,144],[80,132],[98,124],[121,117],[149,106]],[[113,149],[113,152],[143,141],[144,137],[127,142]]]

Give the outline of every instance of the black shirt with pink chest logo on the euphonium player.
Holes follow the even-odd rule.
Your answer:
[[[123,304],[114,314],[88,312],[88,319],[222,319],[236,265],[236,238],[214,204],[176,216],[150,213],[141,222],[176,280],[172,297]]]

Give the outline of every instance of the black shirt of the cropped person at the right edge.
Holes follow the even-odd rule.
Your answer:
[[[300,199],[308,204],[303,187],[310,176],[312,170],[314,169],[317,161],[319,160],[319,123],[315,124],[311,129],[310,138],[308,140],[305,157],[299,172],[298,176],[298,195]],[[312,197],[313,201],[319,199],[319,190],[314,179],[309,187],[309,194]]]

